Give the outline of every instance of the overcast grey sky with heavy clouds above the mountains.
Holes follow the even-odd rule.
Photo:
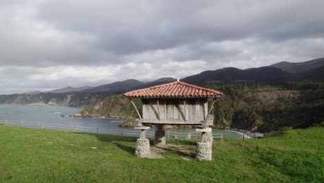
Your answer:
[[[324,1],[1,0],[0,94],[324,56]]]

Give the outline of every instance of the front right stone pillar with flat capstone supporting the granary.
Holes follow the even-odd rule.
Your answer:
[[[197,143],[196,148],[196,159],[199,161],[211,161],[213,153],[211,128],[196,129],[196,132],[201,132],[201,141]]]

